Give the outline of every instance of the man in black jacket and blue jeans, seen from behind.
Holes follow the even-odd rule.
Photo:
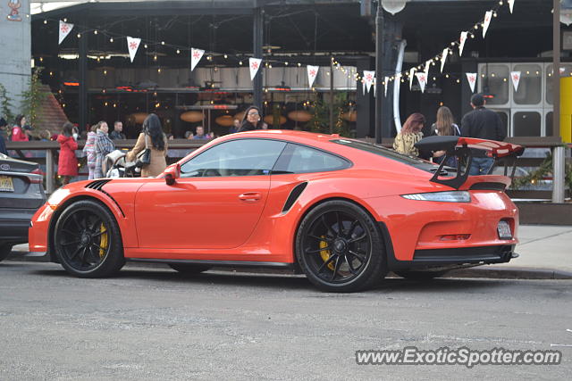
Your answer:
[[[482,94],[471,96],[472,112],[467,112],[461,120],[461,136],[476,137],[502,141],[507,137],[507,128],[502,123],[501,117],[492,110],[484,107],[486,101]],[[483,150],[472,149],[473,160],[469,175],[486,175],[492,169],[494,159],[486,157]]]

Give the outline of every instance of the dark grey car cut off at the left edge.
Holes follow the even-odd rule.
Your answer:
[[[37,163],[0,153],[0,261],[14,244],[28,242],[29,222],[46,202],[42,180]]]

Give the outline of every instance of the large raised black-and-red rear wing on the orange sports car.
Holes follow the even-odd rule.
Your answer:
[[[525,148],[520,145],[497,142],[494,140],[477,139],[475,137],[425,137],[417,142],[415,146],[423,151],[445,151],[445,157],[443,158],[439,169],[435,171],[435,174],[430,181],[445,186],[451,186],[455,189],[458,189],[467,181],[468,171],[471,168],[471,162],[473,161],[471,148],[484,150],[485,154],[488,157],[492,157],[495,161],[501,157],[509,159],[507,164],[512,166],[511,178],[514,177],[515,170],[517,169],[517,157],[525,152]],[[457,157],[458,159],[457,176],[454,178],[439,178],[448,157]],[[464,172],[461,168],[462,162],[467,162],[467,167]]]

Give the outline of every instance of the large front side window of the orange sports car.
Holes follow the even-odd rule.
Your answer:
[[[286,143],[270,139],[231,140],[181,166],[181,178],[270,174]]]

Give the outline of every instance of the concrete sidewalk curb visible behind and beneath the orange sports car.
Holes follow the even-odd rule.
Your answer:
[[[13,251],[5,261],[32,261],[32,262],[49,262],[47,255],[29,256],[27,252]],[[130,262],[128,262],[130,263]],[[133,265],[133,263],[131,263]],[[157,267],[156,263],[146,264],[138,262],[137,266]],[[228,268],[214,267],[217,271],[231,272],[248,272],[260,274],[281,274],[293,275],[292,270],[288,269],[248,269],[248,268]],[[397,277],[390,273],[390,276]],[[446,273],[443,277],[468,277],[468,278],[490,278],[490,279],[572,279],[572,272],[554,269],[540,268],[470,268],[470,269],[453,269]]]

